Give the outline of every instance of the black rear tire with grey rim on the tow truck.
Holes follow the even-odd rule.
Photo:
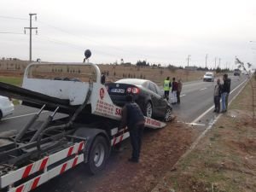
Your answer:
[[[106,166],[110,147],[107,140],[102,136],[97,136],[91,145],[87,169],[91,174],[101,172]]]

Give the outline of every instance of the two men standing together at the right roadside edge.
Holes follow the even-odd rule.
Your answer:
[[[225,113],[228,110],[229,95],[230,95],[231,80],[227,74],[223,76],[223,84],[220,84],[220,79],[217,79],[217,84],[214,87],[214,111],[215,113]],[[222,110],[220,111],[220,98]]]

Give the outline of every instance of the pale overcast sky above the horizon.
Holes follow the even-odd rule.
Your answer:
[[[124,59],[163,65],[256,67],[256,0],[1,0],[0,57],[109,63]],[[20,34],[6,34],[14,32]],[[255,41],[251,42],[250,41]]]

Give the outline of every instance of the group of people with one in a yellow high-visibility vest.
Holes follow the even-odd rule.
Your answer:
[[[171,100],[172,104],[179,104],[180,103],[180,93],[183,89],[183,83],[181,79],[176,81],[175,78],[172,78],[172,82],[170,77],[167,77],[164,81],[164,91],[165,91],[165,98],[169,101],[170,97],[170,90],[172,91]]]

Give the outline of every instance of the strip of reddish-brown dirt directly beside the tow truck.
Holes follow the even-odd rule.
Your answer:
[[[195,135],[195,130],[177,122],[162,130],[145,131],[140,162],[128,161],[131,147],[127,148],[127,153],[119,154],[115,171],[107,172],[95,191],[150,191],[189,148]]]

